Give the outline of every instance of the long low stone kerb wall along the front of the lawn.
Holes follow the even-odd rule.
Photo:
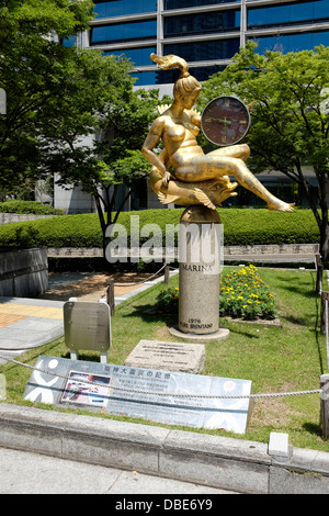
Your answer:
[[[329,494],[329,453],[0,404],[0,446],[250,494]]]

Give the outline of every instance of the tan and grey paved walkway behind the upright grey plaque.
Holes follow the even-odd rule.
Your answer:
[[[114,274],[115,305],[163,280],[161,276],[146,281],[150,277],[149,273]],[[0,296],[0,355],[13,358],[61,337],[65,302],[75,296],[79,301],[99,301],[107,278],[89,272],[56,273],[49,276],[47,292],[37,299]]]

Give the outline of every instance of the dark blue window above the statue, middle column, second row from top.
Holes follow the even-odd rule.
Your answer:
[[[164,19],[164,37],[226,32],[240,27],[240,11],[217,11]]]

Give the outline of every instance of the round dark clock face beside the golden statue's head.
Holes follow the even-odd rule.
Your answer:
[[[209,102],[201,117],[205,137],[219,146],[234,145],[246,136],[250,127],[247,105],[236,97],[218,97]]]

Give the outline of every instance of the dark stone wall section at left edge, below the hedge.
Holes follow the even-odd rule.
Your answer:
[[[48,288],[46,248],[0,249],[0,296],[34,298]]]

